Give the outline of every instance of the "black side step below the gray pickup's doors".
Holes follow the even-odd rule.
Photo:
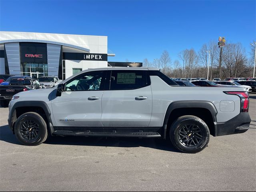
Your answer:
[[[132,132],[132,133],[115,133],[115,132],[73,132],[66,130],[56,130],[54,135],[59,136],[94,136],[94,137],[139,137],[139,138],[161,138],[156,132]]]

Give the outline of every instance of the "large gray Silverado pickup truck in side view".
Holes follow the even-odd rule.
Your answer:
[[[97,68],[52,89],[16,94],[8,123],[24,145],[52,136],[170,139],[180,151],[246,132],[249,96],[239,87],[186,87],[155,68]]]

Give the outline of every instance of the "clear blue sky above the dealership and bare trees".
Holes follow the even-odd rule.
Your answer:
[[[256,1],[3,1],[0,30],[108,36],[109,61],[172,61],[186,48],[225,36],[250,51],[256,40]]]

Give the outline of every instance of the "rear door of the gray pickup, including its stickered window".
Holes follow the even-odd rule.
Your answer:
[[[146,70],[111,70],[109,90],[102,97],[104,127],[148,127],[152,91]]]

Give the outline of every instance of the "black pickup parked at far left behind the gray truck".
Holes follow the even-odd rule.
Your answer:
[[[41,84],[37,82],[30,78],[13,78],[8,85],[0,85],[1,106],[8,106],[12,97],[19,92],[41,88]]]

